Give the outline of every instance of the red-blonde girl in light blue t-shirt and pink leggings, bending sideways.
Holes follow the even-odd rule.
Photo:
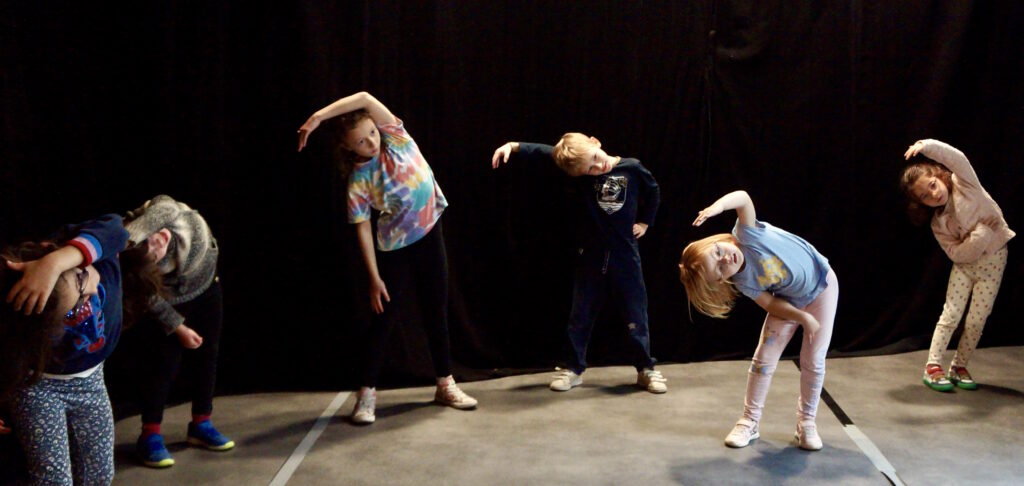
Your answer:
[[[746,379],[743,416],[725,438],[725,445],[743,447],[760,437],[758,423],[772,373],[797,327],[803,326],[796,436],[801,448],[818,450],[821,438],[814,418],[839,302],[839,280],[828,260],[806,240],[758,221],[754,202],[742,190],[725,194],[700,211],[693,225],[700,226],[731,209],[738,217],[732,234],[715,234],[687,245],[679,262],[686,298],[701,313],[724,318],[737,293],[768,311]]]

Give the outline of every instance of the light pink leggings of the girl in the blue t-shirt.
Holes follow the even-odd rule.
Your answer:
[[[839,304],[839,279],[836,272],[828,270],[825,277],[828,286],[813,302],[803,310],[810,312],[818,319],[821,328],[814,339],[807,338],[800,346],[800,400],[797,402],[797,419],[801,423],[813,423],[818,411],[818,399],[821,397],[821,387],[825,381],[825,353],[828,352],[828,342],[831,341],[833,323],[836,320],[836,306]],[[771,386],[771,377],[778,366],[778,358],[790,344],[794,333],[800,324],[771,314],[765,317],[761,329],[761,344],[754,353],[750,373],[746,377],[746,397],[743,399],[743,418],[754,422],[761,421],[761,412],[765,407],[765,397]]]

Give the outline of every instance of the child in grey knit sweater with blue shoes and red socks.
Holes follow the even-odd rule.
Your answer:
[[[142,431],[136,453],[151,468],[174,465],[161,423],[183,356],[195,364],[187,441],[209,450],[230,450],[234,441],[210,421],[223,323],[217,240],[198,211],[168,195],[158,195],[129,212],[125,227],[133,244],[122,256],[126,292],[135,284],[130,277],[137,273],[136,264],[129,262],[155,265],[162,288],[135,327],[143,346],[152,351],[139,364]]]

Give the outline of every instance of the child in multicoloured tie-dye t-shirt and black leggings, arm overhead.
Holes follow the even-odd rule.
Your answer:
[[[467,409],[476,400],[452,378],[447,334],[447,256],[440,217],[447,202],[434,173],[401,120],[370,93],[341,98],[299,128],[299,150],[321,122],[338,117],[342,171],[348,173],[348,221],[370,273],[370,306],[376,317],[366,340],[365,368],[352,422],[376,419],[377,379],[384,348],[398,316],[391,305],[418,300],[430,344],[437,391],[434,400]],[[371,229],[377,218],[377,251]],[[385,285],[385,281],[390,288]],[[384,306],[385,303],[389,305]]]

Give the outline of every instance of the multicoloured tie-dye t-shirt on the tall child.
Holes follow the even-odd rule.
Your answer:
[[[348,177],[348,222],[370,219],[380,211],[377,248],[382,252],[413,245],[441,217],[447,201],[434,173],[401,120],[381,125],[381,151],[356,165]]]

